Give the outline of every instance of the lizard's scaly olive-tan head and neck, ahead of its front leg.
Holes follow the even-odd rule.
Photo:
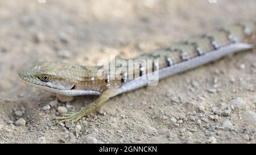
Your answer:
[[[39,61],[31,68],[23,69],[18,77],[32,86],[64,95],[99,95],[99,90],[92,90],[89,77],[94,77],[100,67],[81,66],[65,62]],[[81,82],[84,87],[81,88]]]

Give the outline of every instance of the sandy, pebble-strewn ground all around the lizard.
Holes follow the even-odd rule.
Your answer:
[[[0,1],[0,143],[255,143],[256,51],[118,95],[74,127],[54,120],[57,107],[78,111],[97,97],[49,106],[55,94],[16,77],[38,60],[96,65],[135,40],[126,54],[138,55],[255,18],[255,6],[255,0]],[[15,125],[20,118],[25,126]]]

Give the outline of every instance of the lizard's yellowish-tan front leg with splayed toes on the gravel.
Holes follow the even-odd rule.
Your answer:
[[[73,112],[70,114],[63,114],[61,117],[57,117],[56,120],[60,120],[60,122],[72,121],[77,122],[77,120],[81,119],[83,116],[89,115],[90,113],[98,110],[109,98],[111,98],[116,89],[107,89],[105,90],[97,100],[93,103],[89,104],[86,107],[82,107],[79,112]]]

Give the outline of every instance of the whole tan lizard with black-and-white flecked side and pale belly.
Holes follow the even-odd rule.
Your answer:
[[[67,120],[75,122],[100,108],[109,98],[146,86],[149,79],[142,77],[147,74],[158,72],[158,78],[162,79],[217,60],[230,53],[253,49],[255,44],[256,21],[252,20],[192,37],[170,47],[160,48],[134,58],[136,60],[158,60],[158,63],[152,61],[152,64],[147,64],[149,66],[147,68],[139,64],[139,68],[130,69],[127,64],[125,66],[128,68],[127,72],[104,72],[99,76],[97,73],[102,70],[103,66],[40,61],[35,66],[20,71],[18,77],[32,86],[63,95],[100,95],[98,99],[83,107],[79,112],[64,114],[56,118],[62,122]],[[128,60],[124,59],[124,61]],[[123,67],[115,64],[114,71]],[[127,78],[129,76],[134,78]]]

